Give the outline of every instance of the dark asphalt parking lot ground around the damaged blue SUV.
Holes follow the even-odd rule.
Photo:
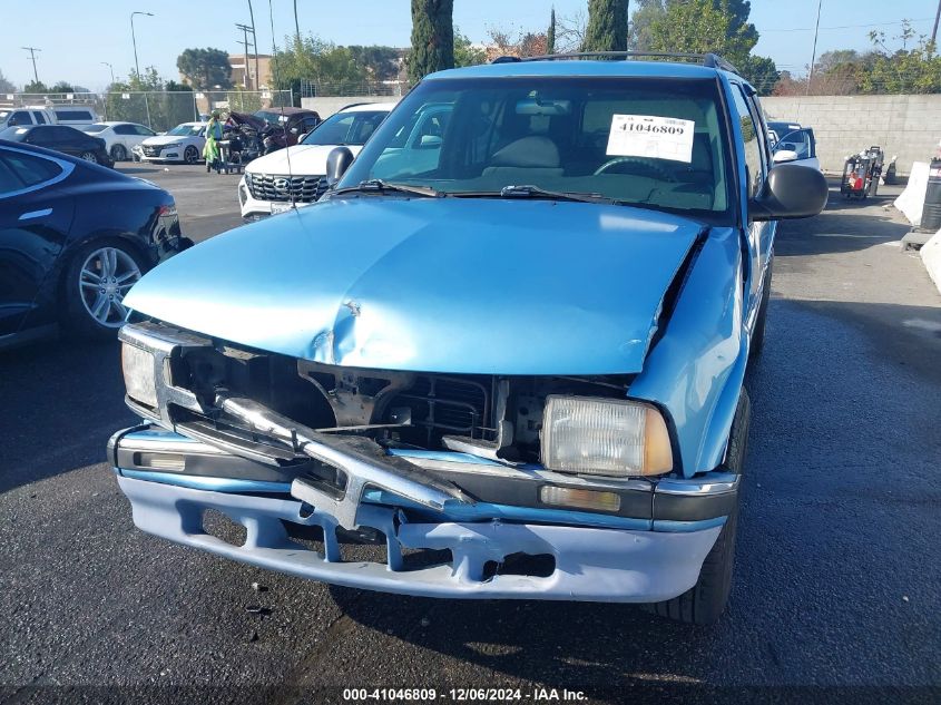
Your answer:
[[[241,222],[237,176],[167,169],[121,167],[170,190],[196,241]],[[832,192],[780,231],[736,580],[710,628],[633,606],[336,589],[151,538],[104,462],[134,422],[117,345],[0,354],[0,702],[94,686],[232,688],[203,702],[340,702],[351,686],[939,702],[941,296],[899,251],[908,228],[884,192]],[[737,687],[771,689],[723,689]],[[146,688],[126,693],[183,699]]]

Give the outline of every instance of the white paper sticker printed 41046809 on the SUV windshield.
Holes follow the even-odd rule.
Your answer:
[[[608,135],[609,156],[693,161],[696,123],[656,115],[614,115]]]

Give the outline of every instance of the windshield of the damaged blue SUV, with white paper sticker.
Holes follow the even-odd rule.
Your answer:
[[[432,79],[403,99],[339,186],[379,178],[499,196],[527,185],[715,221],[731,210],[717,102],[708,80]]]

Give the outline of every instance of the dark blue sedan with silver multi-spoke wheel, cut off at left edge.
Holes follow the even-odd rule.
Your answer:
[[[60,326],[114,335],[125,293],[189,244],[154,184],[0,140],[0,349]]]

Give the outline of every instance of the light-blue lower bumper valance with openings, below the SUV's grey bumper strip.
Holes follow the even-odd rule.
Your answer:
[[[336,520],[303,512],[301,501],[233,495],[118,477],[135,525],[149,533],[261,568],[334,585],[424,597],[535,598],[648,603],[683,594],[721,527],[689,532],[595,529],[489,522],[399,523],[396,510],[363,505],[359,521],[386,536],[388,564],[343,561],[339,546],[314,551],[291,540],[283,522],[320,525],[335,536]],[[246,528],[243,546],[206,533],[203,512],[215,509]],[[450,549],[450,564],[402,569],[403,549]],[[555,557],[548,577],[498,575],[484,579],[488,561],[511,554]]]

